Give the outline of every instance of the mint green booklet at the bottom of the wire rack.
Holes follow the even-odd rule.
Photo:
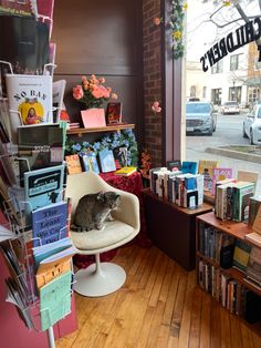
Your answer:
[[[72,273],[69,270],[40,288],[43,331],[71,313],[71,283]]]

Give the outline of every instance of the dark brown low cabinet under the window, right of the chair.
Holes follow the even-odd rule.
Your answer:
[[[212,211],[203,203],[195,209],[179,207],[143,190],[147,235],[159,249],[186,270],[195,269],[196,216]]]

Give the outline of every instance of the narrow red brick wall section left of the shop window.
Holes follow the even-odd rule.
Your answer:
[[[161,112],[154,113],[152,104],[161,105],[161,59],[160,24],[154,24],[154,18],[160,18],[160,0],[143,1],[144,35],[144,144],[152,156],[152,165],[161,165]]]

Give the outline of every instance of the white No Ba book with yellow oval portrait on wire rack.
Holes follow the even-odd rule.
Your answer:
[[[17,143],[17,126],[52,123],[53,91],[50,75],[7,74],[12,142]]]

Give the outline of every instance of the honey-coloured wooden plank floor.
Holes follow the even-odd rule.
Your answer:
[[[100,298],[76,295],[79,330],[58,348],[261,347],[261,332],[221,308],[186,272],[156,247],[130,245],[114,262],[127,279]]]

